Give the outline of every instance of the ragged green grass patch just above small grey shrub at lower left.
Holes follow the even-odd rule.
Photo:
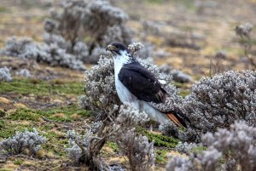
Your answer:
[[[62,117],[55,117],[56,113],[62,113]],[[77,113],[81,115],[82,117],[90,117],[90,112],[85,110],[80,110],[77,105],[67,105],[63,107],[55,107],[52,109],[47,110],[32,110],[32,109],[17,109],[16,111],[13,111],[9,114],[8,117],[4,117],[6,120],[0,119],[0,139],[9,138],[15,134],[15,131],[24,131],[25,129],[32,130],[33,127],[36,127],[38,130],[41,131],[49,131],[52,128],[44,124],[42,127],[38,127],[38,121],[40,117],[46,117],[49,120],[52,121],[65,121],[65,122],[71,122],[73,121],[72,115],[74,113]],[[29,126],[22,125],[18,123],[20,120],[26,120],[32,122]],[[12,123],[10,121],[16,121],[15,123]],[[58,134],[45,134],[46,137],[49,139],[51,138],[60,138]]]

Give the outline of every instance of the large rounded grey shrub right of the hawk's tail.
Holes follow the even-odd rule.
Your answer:
[[[182,105],[191,121],[190,127],[185,131],[170,124],[161,128],[165,134],[177,131],[181,140],[200,141],[201,134],[229,128],[236,120],[245,120],[248,125],[255,126],[256,73],[227,71],[204,77],[192,86],[191,94]]]

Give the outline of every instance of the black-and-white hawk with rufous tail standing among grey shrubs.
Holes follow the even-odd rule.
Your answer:
[[[163,80],[143,67],[123,43],[113,42],[106,51],[113,56],[114,83],[119,100],[145,111],[158,123],[172,120],[178,127],[187,128],[189,118],[177,107],[164,88]]]

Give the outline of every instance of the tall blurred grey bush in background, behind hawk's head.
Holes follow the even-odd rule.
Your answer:
[[[108,43],[131,43],[131,33],[125,27],[127,20],[123,10],[105,0],[65,0],[60,9],[51,10],[50,19],[45,21],[44,41],[56,43],[84,62],[95,63],[100,56],[95,55],[99,54],[96,51]],[[103,50],[100,52],[105,54]]]

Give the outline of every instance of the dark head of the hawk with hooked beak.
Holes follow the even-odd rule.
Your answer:
[[[130,54],[128,48],[123,43],[113,42],[108,45],[106,51],[111,52],[113,55],[116,54]]]

